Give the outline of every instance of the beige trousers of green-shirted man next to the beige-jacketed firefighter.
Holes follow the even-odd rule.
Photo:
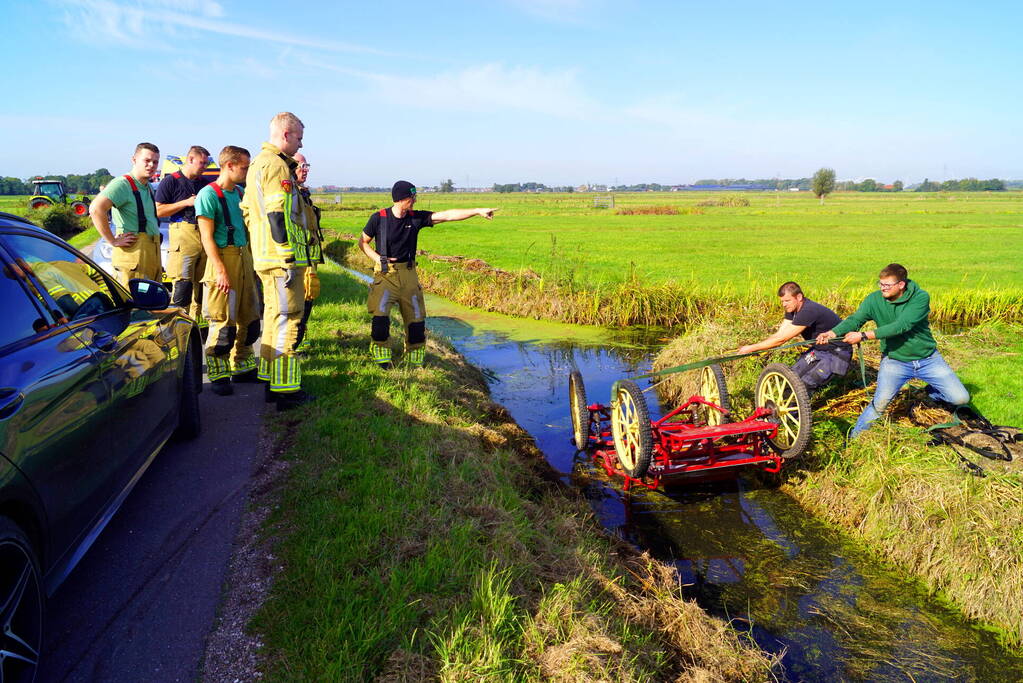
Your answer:
[[[210,381],[225,379],[256,368],[253,345],[259,339],[259,309],[252,252],[248,246],[222,246],[220,258],[231,288],[216,286],[217,275],[208,263],[203,275],[206,288],[203,315],[210,322],[206,337],[206,368]]]

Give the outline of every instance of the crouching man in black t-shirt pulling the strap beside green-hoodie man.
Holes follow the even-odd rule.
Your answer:
[[[766,351],[780,347],[786,342],[802,334],[804,339],[816,339],[821,332],[827,332],[837,325],[841,318],[827,306],[817,304],[803,297],[803,290],[795,282],[786,282],[777,288],[777,295],[785,309],[785,319],[773,334],[762,342],[748,344],[739,349],[741,354],[751,354],[755,351]],[[841,377],[849,370],[852,360],[852,347],[830,345],[810,348],[797,360],[792,369],[813,391],[824,386],[834,377]]]

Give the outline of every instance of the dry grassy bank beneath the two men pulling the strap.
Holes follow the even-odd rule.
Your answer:
[[[777,317],[777,316],[775,316]],[[760,321],[760,322],[758,322]],[[656,362],[670,367],[732,350],[762,336],[776,320],[732,311],[705,322],[669,345]],[[1023,325],[990,324],[939,335],[938,345],[992,421],[1023,425]],[[878,347],[868,345],[876,368]],[[784,354],[787,354],[784,355]],[[780,352],[770,360],[790,360]],[[725,367],[737,413],[748,414],[762,357]],[[666,402],[694,393],[696,373],[672,375],[660,385]],[[869,370],[873,380],[875,370]],[[862,539],[891,563],[925,584],[968,617],[993,626],[1010,645],[1023,642],[1023,449],[1002,463],[970,454],[987,472],[971,476],[947,447],[928,447],[908,419],[923,391],[903,392],[888,423],[846,443],[845,434],[873,394],[858,372],[814,398],[814,440],[807,455],[786,470],[784,490],[814,515]],[[936,411],[931,423],[947,413]],[[990,447],[982,441],[981,446]]]

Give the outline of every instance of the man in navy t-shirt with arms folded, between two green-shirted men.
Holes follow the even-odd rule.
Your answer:
[[[206,323],[202,314],[206,252],[195,222],[195,195],[212,180],[203,175],[209,165],[207,148],[193,145],[181,170],[165,176],[157,188],[157,217],[168,218],[171,224],[167,257],[167,275],[173,284],[171,303],[188,311],[201,324]]]

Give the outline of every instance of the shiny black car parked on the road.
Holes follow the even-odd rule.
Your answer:
[[[0,214],[0,681],[31,681],[45,597],[174,436],[198,434],[198,329]]]

